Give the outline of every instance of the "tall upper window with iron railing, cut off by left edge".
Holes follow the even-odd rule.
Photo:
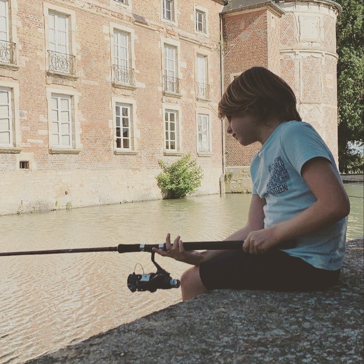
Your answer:
[[[10,41],[9,4],[0,0],[0,62],[16,64],[15,43]]]

